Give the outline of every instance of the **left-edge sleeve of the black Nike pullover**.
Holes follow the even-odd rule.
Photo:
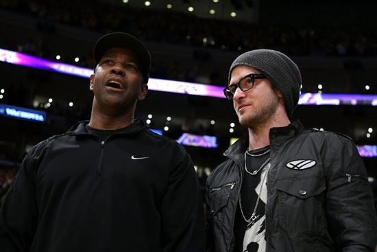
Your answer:
[[[29,251],[32,244],[38,222],[32,163],[29,152],[1,205],[0,251]]]

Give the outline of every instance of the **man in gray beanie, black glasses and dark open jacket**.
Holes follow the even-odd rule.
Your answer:
[[[352,139],[304,130],[292,113],[297,65],[279,51],[242,54],[224,94],[248,135],[208,177],[208,251],[372,251],[376,212]]]

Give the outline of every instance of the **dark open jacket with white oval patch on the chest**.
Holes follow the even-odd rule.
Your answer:
[[[304,130],[272,128],[267,180],[267,251],[372,251],[376,211],[367,172],[353,141]],[[230,146],[206,185],[208,251],[233,251],[233,225],[243,178],[245,136]],[[236,251],[238,252],[238,251]]]

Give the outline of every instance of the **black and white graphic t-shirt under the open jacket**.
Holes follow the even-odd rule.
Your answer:
[[[263,154],[269,150],[269,146],[258,150],[252,150],[250,154]],[[241,207],[243,215],[249,220],[254,212],[256,203],[256,218],[250,223],[246,222],[241,213],[240,203],[237,204],[236,217],[234,220],[234,252],[265,252],[265,204],[267,203],[267,172],[269,170],[269,152],[258,157],[246,155],[247,171],[252,173],[259,170],[255,175],[243,170],[241,185]],[[267,162],[267,163],[265,163]],[[262,185],[263,182],[263,185]],[[262,188],[260,188],[262,186]]]

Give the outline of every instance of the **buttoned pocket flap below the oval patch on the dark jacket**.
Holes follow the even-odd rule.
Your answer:
[[[324,192],[326,184],[317,178],[284,179],[278,181],[276,189],[299,198],[308,198]]]

